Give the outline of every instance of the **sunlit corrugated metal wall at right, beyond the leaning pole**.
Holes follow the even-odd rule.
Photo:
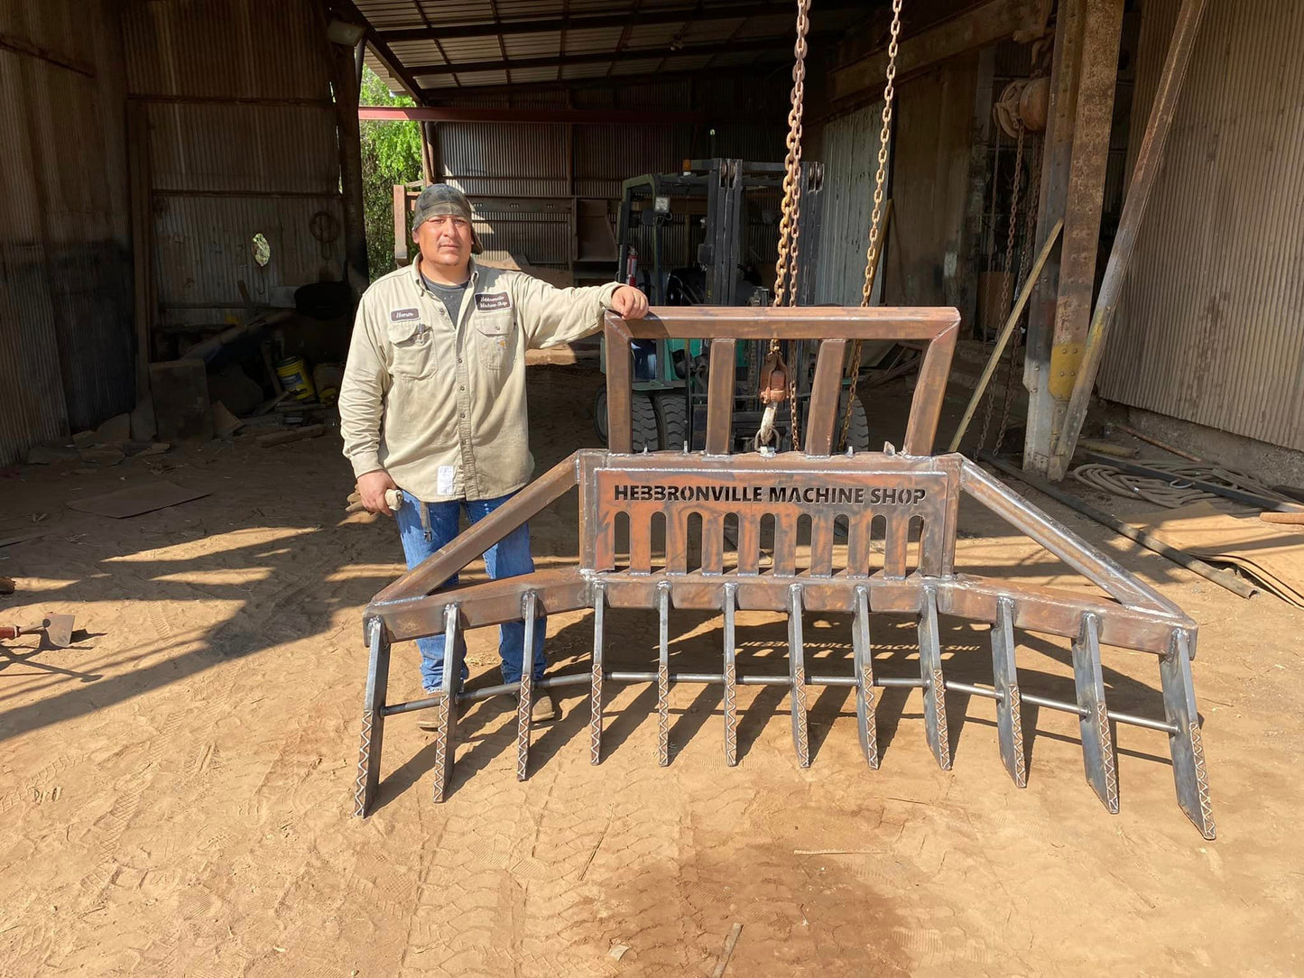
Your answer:
[[[1142,7],[1131,154],[1178,7]],[[1304,450],[1301,48],[1304,4],[1209,0],[1099,391]]]

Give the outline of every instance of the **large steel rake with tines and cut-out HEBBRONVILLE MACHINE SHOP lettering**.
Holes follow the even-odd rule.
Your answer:
[[[923,728],[930,750],[943,769],[951,768],[947,726],[948,690],[995,700],[1001,764],[1020,788],[1028,782],[1024,755],[1024,702],[1078,716],[1086,781],[1102,805],[1116,812],[1119,785],[1110,724],[1133,724],[1168,734],[1178,801],[1201,833],[1213,838],[1208,772],[1200,739],[1198,715],[1189,660],[1196,623],[1176,605],[1128,574],[1108,556],[1041,512],[1003,482],[957,454],[930,454],[943,385],[955,340],[955,310],[884,309],[656,309],[644,322],[609,319],[610,351],[621,340],[665,330],[669,335],[705,335],[732,349],[738,338],[807,339],[811,329],[841,322],[840,335],[824,338],[816,360],[815,394],[807,420],[805,452],[726,454],[719,438],[728,412],[709,404],[707,445],[717,451],[578,451],[486,519],[456,537],[425,563],[387,587],[368,606],[370,674],[364,711],[355,810],[365,815],[374,798],[376,768],[386,716],[434,708],[437,733],[437,792],[442,797],[451,764],[456,705],[486,695],[518,692],[518,683],[476,694],[451,686],[426,700],[386,704],[389,645],[458,629],[509,621],[533,621],[539,614],[592,609],[593,657],[583,674],[549,675],[519,685],[520,730],[518,776],[528,775],[528,703],[537,689],[589,686],[589,751],[601,762],[602,698],[610,682],[639,682],[656,687],[657,760],[672,763],[665,730],[668,696],[677,683],[724,687],[725,762],[738,760],[737,687],[776,685],[789,690],[793,746],[797,762],[810,763],[806,703],[811,686],[855,690],[861,747],[868,768],[879,765],[875,728],[876,690],[884,686],[918,689],[923,694]],[[724,313],[724,314],[721,314]],[[905,313],[905,314],[904,314]],[[812,323],[822,323],[814,327]],[[921,323],[923,326],[921,326]],[[892,330],[926,330],[931,339],[925,373],[915,391],[908,433],[917,452],[829,455],[838,386],[829,379],[841,368],[846,335],[891,338]],[[712,333],[713,330],[713,333]],[[627,347],[625,360],[629,359]],[[721,357],[722,359],[722,357]],[[609,430],[621,443],[621,411],[629,411],[629,365],[609,359]],[[928,373],[931,369],[934,374]],[[820,377],[824,377],[820,381]],[[926,382],[939,377],[936,383]],[[623,396],[618,385],[626,385]],[[729,393],[732,394],[732,393]],[[725,400],[732,400],[725,398]],[[627,449],[629,416],[625,417]],[[910,436],[908,434],[908,443]],[[580,511],[579,562],[518,578],[439,585],[489,545],[542,507],[578,489]],[[956,570],[957,514],[961,494],[969,494],[994,514],[1059,557],[1103,595],[1033,587]],[[806,524],[808,523],[808,529]],[[664,527],[664,545],[655,546],[655,527]],[[730,531],[732,527],[732,531]],[[845,548],[836,548],[841,529]],[[808,533],[808,537],[803,535]],[[799,536],[808,544],[798,546]],[[627,546],[623,541],[627,540]],[[882,550],[882,566],[871,553]],[[659,656],[655,672],[608,668],[602,622],[606,608],[657,612]],[[722,615],[720,672],[685,673],[673,668],[669,639],[673,612],[699,609]],[[768,610],[788,615],[786,674],[755,674],[739,669],[734,647],[737,612]],[[854,651],[850,675],[812,675],[806,666],[802,614],[837,613],[849,617]],[[874,613],[913,617],[919,636],[918,678],[875,677],[872,668]],[[992,685],[974,686],[945,677],[939,615],[953,615],[991,626]],[[1016,630],[1067,638],[1072,647],[1072,699],[1021,695],[1016,668]],[[527,629],[527,634],[532,634]],[[451,645],[450,645],[451,647]],[[1163,719],[1110,711],[1102,681],[1102,648],[1149,652],[1159,666]],[[1180,660],[1180,661],[1179,661]],[[529,661],[529,660],[527,660]],[[458,662],[446,664],[447,675]]]

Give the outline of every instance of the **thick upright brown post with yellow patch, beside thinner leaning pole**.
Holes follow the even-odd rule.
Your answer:
[[[1119,43],[1123,33],[1123,0],[1084,0],[1081,63],[1077,78],[1077,104],[1073,119],[1073,151],[1068,168],[1064,210],[1064,245],[1060,249],[1059,295],[1048,364],[1033,393],[1038,415],[1035,445],[1025,459],[1045,471],[1055,438],[1068,409],[1078,365],[1086,349],[1095,287],[1095,253],[1101,239],[1101,209],[1104,197],[1104,171],[1110,155],[1110,128],[1114,119],[1114,89],[1118,83]],[[1059,117],[1055,120],[1060,121]],[[1045,323],[1039,323],[1045,325]],[[1031,433],[1033,425],[1029,425]]]

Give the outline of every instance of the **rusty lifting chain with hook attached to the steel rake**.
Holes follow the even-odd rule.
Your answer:
[[[793,44],[793,94],[788,111],[788,155],[784,159],[784,205],[778,223],[778,259],[775,262],[775,306],[797,305],[797,259],[801,256],[802,213],[802,111],[806,98],[806,35],[810,31],[811,0],[797,0],[797,42]],[[793,346],[789,344],[789,355]],[[786,381],[784,395],[778,395],[775,381]],[[767,396],[768,394],[768,396]],[[778,340],[769,340],[769,355],[762,368],[762,400],[765,411],[756,446],[768,445],[775,437],[775,413],[778,402],[786,396],[793,451],[799,449],[797,426],[797,372],[789,369],[778,349]]]

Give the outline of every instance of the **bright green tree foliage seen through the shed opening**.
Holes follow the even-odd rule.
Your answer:
[[[370,68],[364,69],[359,99],[364,106],[411,106],[391,95]],[[421,179],[421,133],[417,123],[364,119],[363,210],[366,215],[366,259],[372,280],[394,270],[394,184]]]

